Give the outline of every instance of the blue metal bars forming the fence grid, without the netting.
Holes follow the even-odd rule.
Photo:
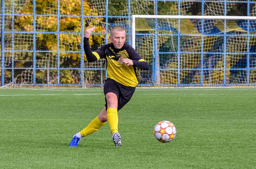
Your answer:
[[[14,84],[14,73],[15,70],[18,69],[30,69],[33,71],[33,82],[32,85],[45,85],[45,84],[38,84],[36,81],[36,73],[37,70],[41,70],[41,69],[50,69],[50,70],[57,70],[57,84],[49,84],[49,86],[54,86],[54,85],[59,85],[59,86],[65,86],[65,85],[69,85],[69,86],[82,86],[84,87],[84,70],[105,70],[105,68],[84,68],[84,58],[83,58],[83,32],[84,32],[84,17],[90,17],[90,18],[95,18],[95,17],[100,17],[100,18],[105,18],[105,27],[106,29],[108,29],[108,24],[109,24],[109,18],[128,18],[128,23],[130,24],[131,22],[131,0],[127,0],[128,1],[128,16],[110,16],[108,15],[108,7],[109,7],[109,0],[106,0],[106,14],[104,16],[88,16],[88,15],[84,15],[83,14],[83,2],[81,1],[81,8],[80,8],[80,15],[60,15],[60,0],[57,0],[57,15],[37,15],[36,14],[36,0],[33,0],[33,14],[14,14],[14,0],[12,0],[12,13],[11,14],[5,14],[5,1],[2,0],[1,1],[1,86],[4,86],[5,84],[5,77],[4,77],[4,73],[5,70],[11,70],[12,72],[12,84]],[[176,2],[178,3],[178,15],[181,14],[181,3],[187,0],[150,0],[150,1],[154,1],[154,14],[157,15],[158,14],[158,2],[160,1],[172,1],[172,2]],[[212,0],[193,0],[194,2],[201,2],[201,15],[204,15],[204,3],[205,2],[212,2]],[[224,15],[227,15],[227,3],[247,3],[247,16],[250,16],[250,4],[255,4],[256,1],[232,1],[232,0],[221,0],[218,1],[218,3],[224,3]],[[12,17],[12,30],[11,31],[5,31],[5,16],[11,16]],[[33,31],[15,31],[14,30],[14,17],[15,16],[30,16],[33,17]],[[56,16],[57,17],[57,31],[56,32],[39,32],[36,31],[36,18],[38,16]],[[81,32],[60,32],[60,17],[79,17],[81,19]],[[256,35],[250,35],[250,32],[247,31],[246,35],[241,35],[243,37],[247,38],[247,51],[246,52],[242,52],[242,53],[238,53],[238,52],[229,52],[227,53],[227,49],[226,49],[226,39],[227,37],[233,37],[234,35],[229,35],[226,33],[226,19],[224,20],[224,32],[222,34],[217,34],[217,35],[203,35],[204,34],[204,19],[201,19],[201,34],[199,33],[198,35],[195,34],[181,34],[180,33],[180,22],[181,20],[178,19],[178,33],[173,33],[173,36],[177,36],[178,38],[178,42],[177,42],[177,46],[178,49],[176,52],[159,52],[157,49],[157,43],[158,43],[158,19],[155,19],[155,32],[153,34],[141,34],[141,33],[136,33],[136,35],[151,35],[153,36],[153,61],[152,61],[152,69],[151,69],[151,73],[152,76],[151,78],[152,80],[152,84],[149,85],[155,85],[157,84],[157,72],[161,71],[161,70],[175,70],[177,71],[177,84],[169,84],[165,86],[176,86],[176,85],[195,85],[195,84],[182,84],[181,82],[181,71],[182,70],[196,70],[196,71],[200,71],[200,84],[196,84],[195,86],[198,85],[203,85],[204,84],[204,71],[209,71],[209,70],[223,70],[223,84],[218,84],[218,85],[227,85],[226,82],[226,71],[227,70],[244,70],[246,71],[246,84],[244,85],[251,85],[250,84],[250,72],[251,70],[255,70],[255,68],[250,68],[250,55],[252,54],[256,54],[256,52],[251,52],[250,53],[250,38],[251,37],[256,37]],[[129,27],[131,27],[131,25],[129,25]],[[247,20],[247,30],[250,30],[250,22],[249,20]],[[97,32],[93,32],[94,35],[105,35],[105,43],[108,43],[108,33],[109,30],[106,30],[106,32],[104,33],[97,33]],[[11,34],[12,37],[12,48],[11,50],[5,50],[5,34]],[[32,34],[33,35],[33,50],[14,50],[14,34]],[[57,50],[56,51],[41,51],[41,50],[37,50],[37,46],[36,46],[36,35],[37,34],[57,34]],[[81,46],[80,46],[80,51],[61,51],[61,53],[79,53],[80,54],[80,67],[79,68],[61,68],[60,67],[60,34],[75,34],[75,35],[80,35],[81,38]],[[128,34],[128,43],[131,44],[131,33],[127,32]],[[188,36],[188,35],[193,35],[193,36],[198,36],[201,37],[201,49],[200,52],[186,52],[187,54],[200,54],[200,68],[198,69],[182,69],[181,68],[181,55],[184,54],[185,52],[181,51],[181,43],[180,43],[180,39],[182,36]],[[224,43],[223,43],[223,50],[221,52],[204,52],[204,37],[207,36],[218,36],[218,37],[223,37],[224,39]],[[5,68],[5,52],[11,52],[12,53],[12,65],[9,68]],[[14,66],[14,54],[15,52],[31,52],[33,53],[33,67],[30,68],[15,68]],[[37,53],[45,53],[45,52],[56,52],[57,53],[57,68],[37,68],[36,67],[36,54]],[[159,54],[176,54],[177,55],[177,59],[178,59],[178,65],[177,65],[177,69],[161,69],[158,68],[159,62],[158,62],[158,55]],[[221,54],[223,55],[223,69],[209,69],[209,68],[204,68],[204,56],[207,54]],[[242,68],[236,68],[236,69],[227,69],[226,67],[226,56],[229,54],[244,54],[246,55],[246,68],[242,69]],[[60,82],[60,72],[61,70],[65,70],[65,69],[69,69],[69,70],[79,70],[80,71],[80,83],[79,84],[61,84]],[[107,77],[107,72],[105,71],[105,78]],[[29,84],[31,85],[31,84]],[[100,84],[91,84],[91,86],[102,86],[103,83],[101,82]],[[161,86],[161,84],[157,84],[159,86]],[[232,84],[235,85],[235,84]]]

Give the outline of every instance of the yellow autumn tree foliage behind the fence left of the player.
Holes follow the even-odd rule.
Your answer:
[[[24,8],[18,11],[19,14],[33,15],[33,3],[31,1],[25,1]],[[55,56],[57,58],[57,50],[60,51],[60,67],[61,68],[80,68],[81,54],[81,0],[60,0],[60,6],[58,10],[58,4],[56,0],[37,0],[35,11],[35,25],[34,16],[15,16],[15,30],[33,32],[34,27],[36,31],[36,50],[50,51],[50,52],[38,52],[36,53],[36,59],[47,58],[47,54]],[[58,15],[59,14],[59,15]],[[99,12],[95,8],[91,8],[91,4],[87,1],[83,1],[83,15],[97,16]],[[65,16],[63,16],[65,15]],[[70,15],[70,16],[69,16]],[[84,19],[84,30],[86,27],[94,26],[95,32],[105,32],[105,28],[102,24],[90,23],[97,21],[102,23],[104,18]],[[59,21],[59,25],[58,25]],[[70,33],[69,33],[70,32]],[[33,50],[33,33],[22,34],[21,39],[30,39],[27,42],[24,41],[23,50]],[[59,39],[59,43],[58,43]],[[105,35],[96,35],[90,38],[91,46],[98,46],[105,42]],[[20,44],[15,44],[20,45]],[[58,49],[59,46],[59,49]],[[95,46],[95,47],[96,47]],[[73,51],[73,52],[68,52]],[[74,53],[74,51],[76,51]],[[53,58],[53,60],[56,60]],[[27,59],[26,55],[20,59]],[[65,61],[63,61],[65,59]],[[86,57],[84,57],[86,60]],[[64,65],[63,62],[65,62]],[[44,73],[44,72],[41,72]],[[77,83],[76,77],[71,76],[72,70],[61,71],[60,81],[64,84]],[[40,77],[43,77],[40,73],[37,73],[37,78],[40,82]],[[43,82],[42,80],[41,82]]]

